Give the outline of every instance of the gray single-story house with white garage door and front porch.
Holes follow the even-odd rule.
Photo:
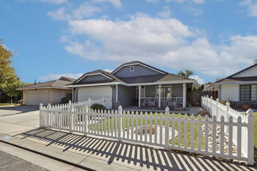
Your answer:
[[[65,87],[73,101],[110,98],[112,108],[125,106],[186,106],[186,91],[193,79],[167,73],[140,61],[122,64],[112,73],[96,70]]]

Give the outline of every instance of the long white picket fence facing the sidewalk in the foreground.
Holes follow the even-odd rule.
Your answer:
[[[68,110],[66,110],[68,109]],[[68,130],[70,132],[79,132],[84,135],[95,135],[100,137],[125,140],[129,142],[149,144],[159,147],[164,147],[166,150],[177,149],[188,152],[213,155],[222,158],[230,158],[237,160],[248,161],[248,164],[253,165],[253,136],[254,130],[253,111],[248,111],[248,121],[241,122],[241,116],[238,116],[237,122],[233,122],[232,116],[228,121],[224,121],[221,116],[219,121],[213,116],[213,121],[209,121],[208,115],[202,118],[198,115],[197,119],[194,115],[174,113],[170,114],[169,107],[166,107],[165,113],[143,113],[123,111],[122,107],[116,111],[88,111],[85,109],[75,108],[70,104],[69,108],[60,110],[51,107],[40,106],[40,127],[54,128],[59,130]],[[165,115],[164,115],[165,114]],[[212,149],[209,148],[209,137],[203,137],[201,132],[202,125],[212,125]],[[182,127],[183,126],[183,127]],[[223,137],[224,129],[228,128],[228,151],[224,152],[224,139],[220,138],[220,149],[216,148],[216,126],[220,126],[220,137]],[[143,131],[145,127],[146,131]],[[149,127],[149,133],[147,133]],[[155,133],[153,133],[153,128]],[[178,132],[175,136],[175,127]],[[183,128],[183,129],[182,129]],[[232,153],[232,138],[235,129],[237,130],[237,153]],[[241,150],[243,133],[242,128],[248,129],[246,139],[248,146]],[[197,131],[194,131],[197,129]],[[183,130],[183,131],[182,131]],[[139,131],[139,132],[138,132]],[[205,127],[205,135],[208,135],[209,129]],[[190,135],[190,138],[189,138]],[[204,140],[203,140],[204,138]],[[204,145],[203,145],[204,144]]]

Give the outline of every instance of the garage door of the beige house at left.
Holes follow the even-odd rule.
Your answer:
[[[27,105],[43,105],[48,104],[48,90],[29,90]]]

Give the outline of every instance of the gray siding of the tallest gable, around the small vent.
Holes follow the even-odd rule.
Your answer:
[[[146,68],[142,65],[133,65],[134,71],[130,71],[130,66],[125,66],[122,69],[118,70],[114,75],[118,77],[135,77],[135,76],[147,76],[147,75],[156,75],[160,74],[157,71]]]

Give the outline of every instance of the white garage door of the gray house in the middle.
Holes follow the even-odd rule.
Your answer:
[[[110,86],[87,87],[78,90],[78,101],[86,101],[88,98],[101,99],[112,98],[112,88]]]

